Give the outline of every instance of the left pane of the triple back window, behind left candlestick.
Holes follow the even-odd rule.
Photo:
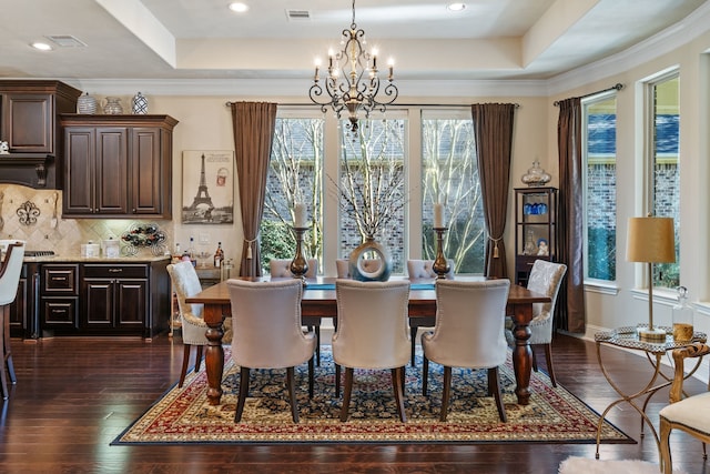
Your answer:
[[[304,235],[306,258],[323,254],[323,119],[277,118],[261,223],[262,268],[271,259],[293,259],[294,202],[306,205],[312,230]]]

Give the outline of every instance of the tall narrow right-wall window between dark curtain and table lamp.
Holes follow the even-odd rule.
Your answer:
[[[617,263],[617,98],[605,93],[582,103],[585,161],[585,271],[615,281]]]

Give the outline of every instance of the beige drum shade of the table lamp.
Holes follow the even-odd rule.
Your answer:
[[[673,263],[676,241],[672,218],[630,218],[626,260],[629,262]]]

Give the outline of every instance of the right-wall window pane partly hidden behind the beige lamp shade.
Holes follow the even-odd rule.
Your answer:
[[[653,215],[673,218],[676,263],[653,265],[653,284],[676,288],[680,284],[680,108],[678,75],[653,84]]]

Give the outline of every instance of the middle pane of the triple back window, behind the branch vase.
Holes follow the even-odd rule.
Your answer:
[[[393,273],[404,272],[404,119],[361,120],[357,134],[341,127],[339,258],[368,234],[392,254]],[[355,219],[361,216],[363,219]]]

